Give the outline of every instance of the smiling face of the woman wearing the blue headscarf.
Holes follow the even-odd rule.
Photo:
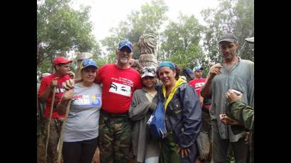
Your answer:
[[[158,69],[158,74],[160,80],[165,84],[165,86],[170,87],[175,84],[176,70],[173,71],[170,67],[160,67]]]

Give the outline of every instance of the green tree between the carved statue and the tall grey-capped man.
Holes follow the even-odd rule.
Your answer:
[[[171,21],[163,32],[158,60],[170,60],[183,68],[203,65],[206,56],[199,45],[203,26],[193,15],[180,13],[178,19],[177,23]]]

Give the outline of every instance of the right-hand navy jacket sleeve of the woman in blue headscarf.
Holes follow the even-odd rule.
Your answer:
[[[182,125],[183,132],[180,135],[180,146],[190,147],[196,140],[202,125],[202,109],[199,97],[192,86],[185,84],[186,87],[181,91],[182,99]]]

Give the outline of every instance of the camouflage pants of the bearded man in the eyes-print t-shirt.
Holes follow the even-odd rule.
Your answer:
[[[99,118],[101,163],[128,163],[131,130],[131,121],[127,114],[109,114],[101,111]]]

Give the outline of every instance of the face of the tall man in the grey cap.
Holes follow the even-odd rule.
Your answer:
[[[219,49],[224,55],[225,60],[232,60],[236,57],[236,49],[238,48],[238,43],[230,43],[227,41],[223,41],[219,43]]]

